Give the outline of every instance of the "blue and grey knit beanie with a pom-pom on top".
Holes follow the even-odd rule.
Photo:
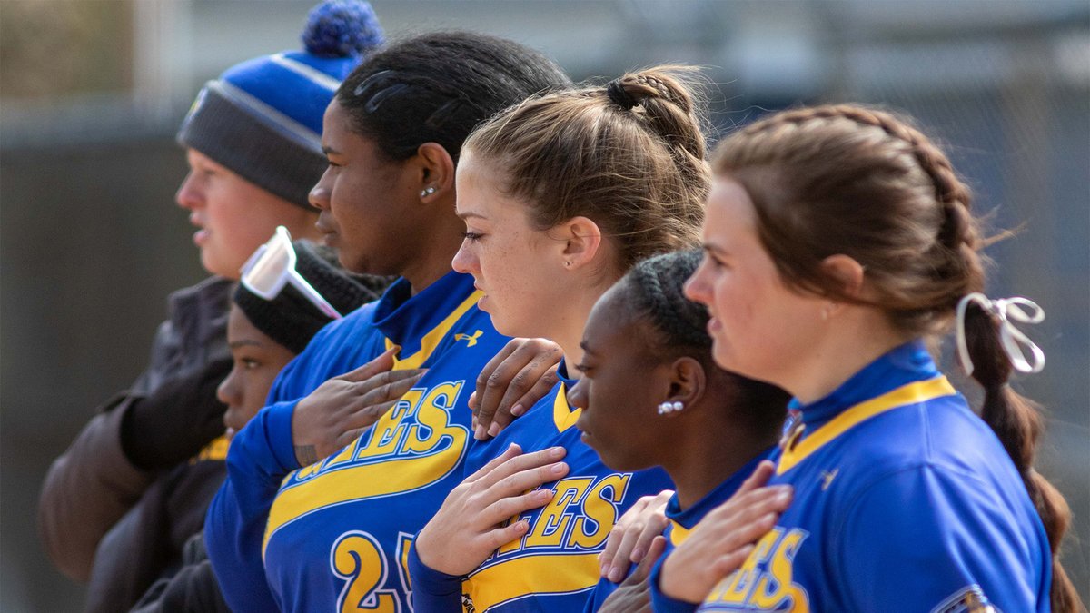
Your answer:
[[[383,44],[371,4],[326,0],[303,32],[303,51],[255,58],[205,84],[178,142],[281,199],[310,208],[322,178],[322,118],[340,82]]]

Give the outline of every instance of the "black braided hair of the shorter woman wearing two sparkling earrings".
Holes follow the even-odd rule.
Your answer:
[[[656,360],[688,356],[701,363],[708,380],[719,377],[728,397],[718,398],[730,411],[731,423],[758,437],[780,430],[789,395],[775,385],[719,369],[712,358],[707,309],[682,293],[686,279],[697,272],[702,252],[677,251],[649,257],[632,267],[611,292],[626,304],[625,324],[643,323],[643,345]],[[641,329],[641,328],[638,328]]]

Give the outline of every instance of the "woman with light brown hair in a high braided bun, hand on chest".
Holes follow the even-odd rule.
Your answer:
[[[695,243],[710,185],[698,117],[681,73],[652,69],[528,100],[474,131],[458,166],[467,231],[453,267],[473,275],[498,330],[549,338],[580,363],[598,298],[638,261]],[[661,470],[602,464],[566,399],[579,374],[560,376],[470,449],[469,477],[410,556],[416,611],[582,610],[616,517],[668,485]]]

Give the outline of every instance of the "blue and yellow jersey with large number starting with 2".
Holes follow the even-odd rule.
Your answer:
[[[509,340],[477,298],[468,275],[450,273],[416,296],[401,279],[324,328],[281,373],[274,404],[232,442],[230,481],[209,510],[209,556],[233,610],[408,610],[408,539],[461,480],[467,399]],[[395,368],[427,374],[343,450],[299,467],[298,398],[393,345]]]

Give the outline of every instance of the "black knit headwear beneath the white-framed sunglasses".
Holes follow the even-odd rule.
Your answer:
[[[337,252],[329,248],[306,240],[291,244],[295,249],[295,269],[338,313],[348,314],[376,300],[389,283],[344,271],[337,263]],[[332,321],[290,284],[275,299],[265,300],[240,283],[234,303],[254,327],[294,353],[301,353],[311,338]]]

